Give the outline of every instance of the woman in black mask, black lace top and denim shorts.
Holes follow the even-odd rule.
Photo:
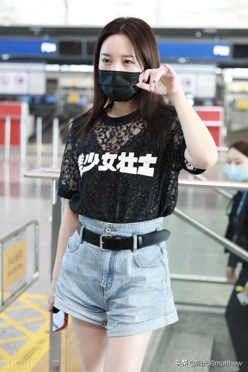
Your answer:
[[[140,371],[152,331],[178,320],[162,220],[180,170],[202,173],[217,157],[175,71],[160,67],[147,23],[106,25],[93,107],[74,120],[65,147],[58,195],[70,203],[48,294],[50,312],[71,315],[84,372]]]

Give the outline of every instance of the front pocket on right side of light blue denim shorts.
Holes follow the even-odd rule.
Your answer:
[[[164,251],[160,247],[160,244],[161,243],[149,247],[143,247],[138,249],[136,252],[133,252],[135,265],[147,268],[162,266]]]

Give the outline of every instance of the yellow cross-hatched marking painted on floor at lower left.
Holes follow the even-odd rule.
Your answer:
[[[40,301],[34,303],[32,299],[39,299]],[[22,369],[23,371],[35,370],[39,360],[49,351],[50,313],[41,307],[48,304],[47,296],[24,293],[19,296],[18,300],[22,302],[22,305],[9,307],[0,313],[0,318],[4,321],[0,324],[0,327],[7,327],[9,325],[24,333],[23,336],[18,337],[9,337],[8,334],[6,334],[6,339],[0,340],[0,355],[4,358],[0,359],[1,371],[7,370],[16,372],[17,369]],[[35,317],[15,320],[10,316],[10,311],[18,312],[18,310],[25,308],[32,308],[35,310]],[[37,316],[36,311],[39,312],[40,316]],[[40,320],[44,320],[44,323],[35,333],[25,327],[25,323],[30,324],[32,321]],[[21,340],[26,340],[26,342],[20,346],[20,349],[17,350],[15,355],[11,355],[3,349],[4,344],[13,343],[15,341],[18,343],[18,341]],[[48,366],[44,371],[48,371]]]

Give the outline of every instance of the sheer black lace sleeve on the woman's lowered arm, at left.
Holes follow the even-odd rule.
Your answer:
[[[71,199],[79,189],[80,172],[77,163],[77,148],[79,142],[80,138],[79,135],[77,135],[75,124],[73,123],[65,144],[58,182],[58,196],[62,198]]]

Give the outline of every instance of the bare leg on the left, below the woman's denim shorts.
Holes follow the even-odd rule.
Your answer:
[[[83,372],[103,372],[108,338],[100,325],[71,317]]]

